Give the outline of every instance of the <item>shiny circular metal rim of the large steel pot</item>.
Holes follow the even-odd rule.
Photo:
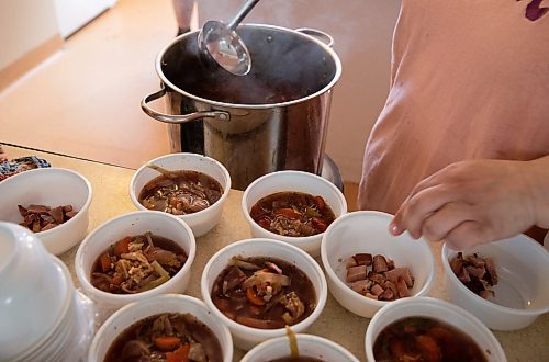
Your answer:
[[[332,80],[329,81],[329,83],[327,83],[324,88],[320,89],[318,91],[316,91],[316,92],[314,92],[312,94],[309,94],[306,97],[302,97],[302,98],[299,98],[296,100],[291,100],[291,101],[287,101],[287,102],[264,103],[264,104],[226,103],[226,102],[214,101],[214,100],[211,100],[211,99],[208,99],[208,98],[198,97],[195,94],[192,94],[192,93],[189,93],[189,92],[182,90],[181,88],[177,87],[171,81],[169,81],[168,78],[166,78],[166,76],[163,72],[161,60],[163,60],[164,55],[166,54],[166,52],[171,46],[173,46],[176,43],[179,43],[184,37],[198,35],[198,33],[200,32],[200,29],[199,29],[199,30],[195,30],[193,32],[184,33],[184,34],[181,34],[181,35],[177,36],[176,38],[173,38],[170,43],[168,43],[168,45],[166,45],[158,53],[158,55],[156,57],[156,60],[155,60],[155,68],[156,68],[156,73],[158,75],[158,77],[163,81],[163,87],[169,87],[172,90],[176,90],[177,92],[179,92],[179,93],[181,93],[181,94],[183,94],[183,95],[186,95],[188,98],[191,98],[191,99],[193,99],[195,101],[208,103],[210,105],[216,105],[216,106],[229,108],[229,109],[231,108],[234,108],[234,109],[246,108],[246,109],[254,109],[254,110],[265,110],[265,109],[271,109],[271,108],[284,108],[284,106],[288,106],[288,105],[293,105],[293,104],[306,102],[306,101],[309,101],[309,100],[311,100],[313,98],[316,98],[316,97],[318,97],[318,95],[321,95],[321,94],[329,91],[332,88],[334,88],[334,86],[339,80],[339,78],[341,76],[341,60],[339,59],[339,57],[337,56],[337,54],[334,52],[333,48],[330,48],[328,45],[326,45],[322,41],[315,38],[314,36],[311,36],[311,35],[307,35],[305,33],[301,33],[301,32],[298,32],[295,30],[291,30],[291,29],[288,29],[288,27],[278,26],[278,25],[247,23],[247,24],[240,24],[240,25],[238,25],[238,27],[240,27],[240,26],[242,27],[264,27],[264,29],[271,29],[271,30],[277,30],[277,31],[284,31],[284,32],[293,33],[296,36],[304,37],[304,38],[306,38],[310,42],[316,43],[334,60],[335,68],[336,68],[334,77],[332,78]]]

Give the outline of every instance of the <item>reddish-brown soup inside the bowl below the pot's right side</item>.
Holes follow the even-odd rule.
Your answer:
[[[292,237],[324,233],[336,218],[322,196],[303,192],[278,192],[262,197],[249,214],[262,228]]]

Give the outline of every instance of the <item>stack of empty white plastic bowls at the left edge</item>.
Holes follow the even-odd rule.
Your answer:
[[[67,267],[35,234],[0,222],[1,361],[18,360],[55,337],[74,292]]]

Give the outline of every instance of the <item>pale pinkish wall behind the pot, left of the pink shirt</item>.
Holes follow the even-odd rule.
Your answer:
[[[244,0],[198,0],[200,25],[229,20]],[[330,34],[343,75],[334,90],[327,154],[345,181],[360,180],[363,148],[389,90],[391,39],[400,0],[264,0],[244,20]]]

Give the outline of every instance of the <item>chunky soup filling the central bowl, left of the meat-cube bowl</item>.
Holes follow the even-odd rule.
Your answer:
[[[216,278],[212,301],[239,324],[276,329],[310,316],[316,307],[316,293],[305,273],[289,262],[234,258]]]

